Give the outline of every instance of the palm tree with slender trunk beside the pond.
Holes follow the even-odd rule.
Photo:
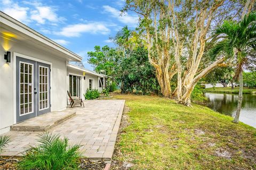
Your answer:
[[[256,13],[252,12],[244,16],[239,22],[225,21],[215,30],[215,34],[222,35],[220,41],[212,50],[214,55],[222,52],[226,58],[235,59],[235,76],[239,80],[239,97],[234,123],[238,123],[243,97],[243,67],[247,61],[246,52],[256,49]]]

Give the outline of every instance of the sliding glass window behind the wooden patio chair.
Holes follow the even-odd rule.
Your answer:
[[[81,77],[75,76],[75,75],[69,75],[69,92],[71,96],[78,96],[80,95],[80,87],[81,87]]]

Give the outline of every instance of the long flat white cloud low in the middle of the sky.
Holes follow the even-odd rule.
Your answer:
[[[56,32],[57,35],[62,35],[65,37],[79,37],[81,33],[89,32],[89,33],[101,33],[106,35],[110,32],[110,30],[106,27],[105,24],[93,22],[87,24],[73,24],[67,25],[67,27],[62,28],[60,32]]]

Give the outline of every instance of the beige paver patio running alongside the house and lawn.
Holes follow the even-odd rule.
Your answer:
[[[75,107],[76,115],[50,129],[66,136],[70,143],[81,143],[83,156],[90,160],[109,161],[113,155],[125,100],[86,100],[85,107]],[[35,145],[41,132],[7,132],[11,142],[2,156],[21,155],[29,145]]]

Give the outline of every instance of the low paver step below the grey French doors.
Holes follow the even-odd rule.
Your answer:
[[[14,124],[10,131],[45,132],[76,115],[76,111],[50,112]]]

